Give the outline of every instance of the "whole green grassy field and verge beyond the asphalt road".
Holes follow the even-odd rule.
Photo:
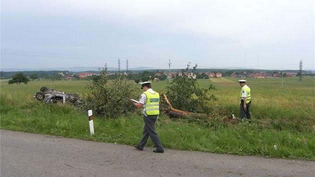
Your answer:
[[[200,87],[216,86],[211,107],[217,113],[204,122],[161,115],[156,128],[163,146],[263,157],[315,160],[315,77],[246,78],[252,95],[252,123],[238,118],[237,78],[199,79]],[[164,92],[168,81],[153,82]],[[50,104],[32,96],[41,86],[84,95],[87,81],[0,81],[0,128],[72,138],[136,144],[142,133],[140,110],[117,119],[94,116],[94,135],[89,134],[87,111],[69,104]],[[141,90],[139,89],[139,94]],[[130,102],[131,103],[131,102]],[[226,121],[234,112],[236,118]],[[277,145],[277,149],[273,147]],[[147,146],[152,146],[148,141]],[[130,146],[132,148],[132,146]]]

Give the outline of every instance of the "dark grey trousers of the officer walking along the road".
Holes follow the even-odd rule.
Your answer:
[[[143,115],[144,127],[143,127],[142,138],[141,138],[140,143],[139,143],[139,145],[141,147],[144,147],[148,137],[150,136],[156,149],[157,150],[163,150],[163,146],[162,146],[161,142],[159,141],[159,137],[157,135],[157,132],[155,130],[155,125],[154,125],[154,123],[157,119],[157,116],[158,115],[147,115],[147,116]]]

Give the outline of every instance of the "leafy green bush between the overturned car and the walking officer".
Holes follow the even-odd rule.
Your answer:
[[[137,97],[137,87],[133,81],[128,81],[124,75],[109,80],[105,66],[99,77],[86,85],[86,106],[99,117],[117,118],[127,115],[135,109],[129,100]]]

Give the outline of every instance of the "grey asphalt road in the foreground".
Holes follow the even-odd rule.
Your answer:
[[[315,176],[315,162],[165,149],[0,130],[0,176]]]

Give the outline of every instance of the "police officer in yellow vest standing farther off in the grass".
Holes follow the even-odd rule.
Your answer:
[[[239,98],[240,98],[240,104],[239,104],[239,114],[241,120],[248,119],[249,122],[251,122],[251,112],[249,109],[250,103],[251,103],[251,96],[250,96],[250,88],[246,85],[246,80],[238,80],[239,84],[241,86]]]

